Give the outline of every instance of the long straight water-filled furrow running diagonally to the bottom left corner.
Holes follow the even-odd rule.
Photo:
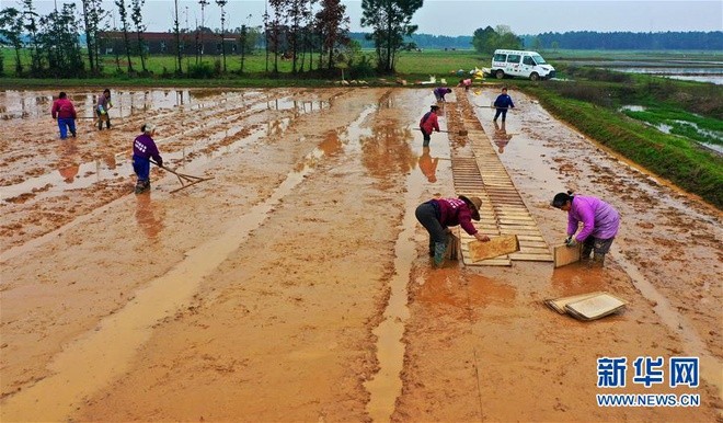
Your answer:
[[[183,262],[136,293],[122,310],[104,319],[97,329],[70,344],[51,363],[54,374],[13,396],[3,404],[3,419],[64,420],[83,397],[103,388],[125,371],[152,327],[187,304],[203,278],[239,249],[268,213],[303,181],[324,158],[315,148],[299,170],[287,174],[264,202],[230,222],[232,230],[185,253]],[[106,348],[107,345],[115,345]],[[42,403],[43,407],[37,407]]]

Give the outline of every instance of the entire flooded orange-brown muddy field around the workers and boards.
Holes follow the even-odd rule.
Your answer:
[[[100,90],[97,90],[100,93]],[[93,93],[68,90],[82,116]],[[0,93],[2,421],[716,421],[722,215],[512,92],[448,95],[429,151],[428,89],[114,92],[113,130],[60,141],[50,92]],[[468,121],[460,119],[468,117]],[[556,192],[622,216],[602,270],[431,267],[414,208],[454,195],[454,135],[477,116],[550,244]],[[164,161],[133,195],[129,147],[157,124]],[[431,175],[433,178],[431,178]],[[542,300],[607,290],[579,322]],[[636,357],[699,357],[700,386],[644,388]],[[597,359],[627,357],[624,388]],[[667,366],[666,366],[667,371]],[[600,393],[699,396],[602,408]]]

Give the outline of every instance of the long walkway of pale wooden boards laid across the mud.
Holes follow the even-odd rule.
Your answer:
[[[529,213],[521,195],[500,160],[493,144],[475,117],[460,116],[460,108],[471,110],[466,95],[457,95],[457,103],[446,103],[446,114],[457,129],[467,129],[464,145],[452,148],[451,168],[455,191],[459,195],[478,196],[482,199],[481,220],[475,226],[490,237],[517,235],[519,251],[496,259],[472,262],[468,243],[474,240],[459,230],[464,265],[509,266],[512,261],[552,262],[553,256],[542,232]],[[455,137],[460,137],[455,135]]]

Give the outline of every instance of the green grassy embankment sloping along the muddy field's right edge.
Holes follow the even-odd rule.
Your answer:
[[[617,73],[608,75],[608,79],[620,78]],[[701,148],[696,142],[699,134],[665,134],[619,111],[623,104],[640,104],[653,107],[656,116],[666,119],[692,116],[699,127],[720,130],[723,87],[623,77],[624,81],[606,81],[604,73],[595,71],[595,79],[526,83],[520,88],[586,136],[723,208],[723,158]],[[709,137],[707,141],[710,140]]]

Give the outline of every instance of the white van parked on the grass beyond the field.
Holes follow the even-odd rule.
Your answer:
[[[523,77],[532,81],[554,78],[554,68],[537,52],[494,50],[490,73],[497,79]]]

